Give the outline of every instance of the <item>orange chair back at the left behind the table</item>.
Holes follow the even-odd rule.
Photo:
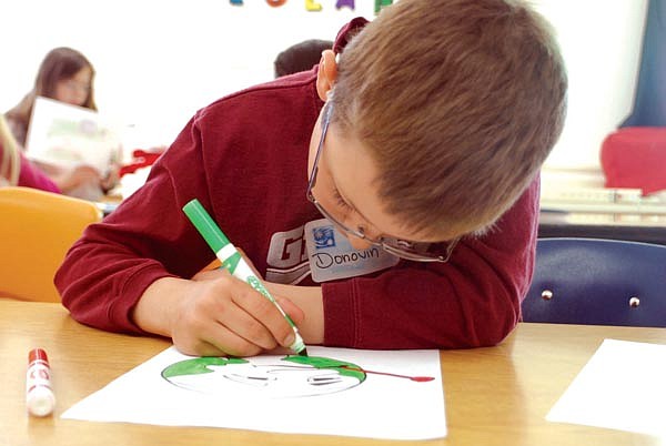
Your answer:
[[[53,275],[85,226],[101,219],[92,202],[0,187],[0,297],[60,302]]]

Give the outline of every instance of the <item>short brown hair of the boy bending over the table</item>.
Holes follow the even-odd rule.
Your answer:
[[[519,1],[401,0],[347,44],[332,120],[370,151],[385,211],[427,235],[483,231],[562,131],[567,79]]]

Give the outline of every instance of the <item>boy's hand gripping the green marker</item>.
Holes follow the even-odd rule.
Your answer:
[[[199,273],[172,312],[170,333],[185,354],[253,356],[293,343],[293,331],[275,305],[225,270]],[[294,323],[303,313],[279,301]]]

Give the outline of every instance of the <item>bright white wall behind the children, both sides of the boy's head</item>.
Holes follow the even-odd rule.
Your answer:
[[[0,110],[30,90],[48,50],[70,45],[97,69],[101,112],[135,124],[147,144],[169,143],[196,109],[272,79],[284,48],[333,39],[351,18],[374,16],[374,0],[356,0],[355,11],[316,1],[321,12],[306,11],[305,0],[13,1],[0,27]],[[647,0],[533,3],[557,31],[571,85],[564,134],[546,165],[599,172],[601,142],[632,108]]]

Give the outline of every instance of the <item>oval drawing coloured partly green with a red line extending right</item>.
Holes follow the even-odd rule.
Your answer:
[[[322,357],[289,355],[275,357],[194,357],[162,371],[169,383],[209,395],[229,396],[233,392],[256,392],[268,398],[319,396],[359,386],[367,374],[407,378],[414,382],[434,379],[430,376],[403,376],[372,372],[356,364]]]

